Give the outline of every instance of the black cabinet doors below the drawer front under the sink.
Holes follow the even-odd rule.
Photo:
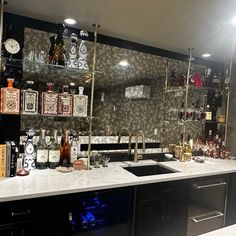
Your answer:
[[[177,197],[138,203],[135,218],[135,236],[183,236],[187,204]]]

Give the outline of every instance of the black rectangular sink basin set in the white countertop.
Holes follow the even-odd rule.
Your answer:
[[[178,172],[159,165],[129,166],[123,168],[136,176],[162,175]]]

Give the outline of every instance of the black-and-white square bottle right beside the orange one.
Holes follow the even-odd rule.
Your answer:
[[[38,91],[33,90],[34,81],[26,81],[27,89],[22,90],[22,114],[38,113]]]

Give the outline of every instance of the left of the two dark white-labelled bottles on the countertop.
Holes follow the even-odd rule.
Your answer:
[[[48,145],[45,142],[45,129],[41,129],[37,143],[36,166],[38,169],[46,169],[48,166]]]

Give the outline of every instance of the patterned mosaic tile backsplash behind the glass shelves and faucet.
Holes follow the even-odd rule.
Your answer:
[[[25,29],[24,55],[30,51],[45,51],[50,48],[50,33],[34,29]],[[65,46],[69,46],[69,38],[65,38]],[[88,64],[92,68],[93,43],[87,42]],[[127,67],[119,62],[127,60]],[[165,93],[164,84],[166,67],[177,74],[186,74],[187,62],[167,59],[157,55],[141,53],[138,51],[114,47],[105,44],[97,46],[95,99],[93,130],[95,135],[117,135],[122,127],[127,127],[134,135],[138,130],[144,132],[145,137],[164,144],[176,143],[180,140],[183,125],[177,119],[177,110],[184,102],[184,92]],[[194,69],[204,71],[202,66],[193,65]],[[90,93],[90,83],[81,76],[68,77],[63,73],[58,75],[42,75],[40,73],[24,72],[24,80],[33,79],[40,83],[42,90],[44,83],[53,81],[58,87],[70,81],[76,85],[85,86],[85,93]],[[43,83],[42,83],[43,81]],[[63,82],[61,82],[63,81]],[[125,97],[127,87],[145,85],[150,87],[149,99],[130,99]],[[189,104],[199,99],[203,106],[205,101],[203,90],[191,90]],[[90,103],[90,100],[89,100]],[[176,114],[176,115],[175,115]],[[85,119],[69,118],[66,120],[53,117],[22,117],[21,129],[27,127],[40,127],[45,129],[76,129],[87,134],[88,122]],[[200,121],[187,123],[187,133],[191,137],[202,132],[203,124]]]

